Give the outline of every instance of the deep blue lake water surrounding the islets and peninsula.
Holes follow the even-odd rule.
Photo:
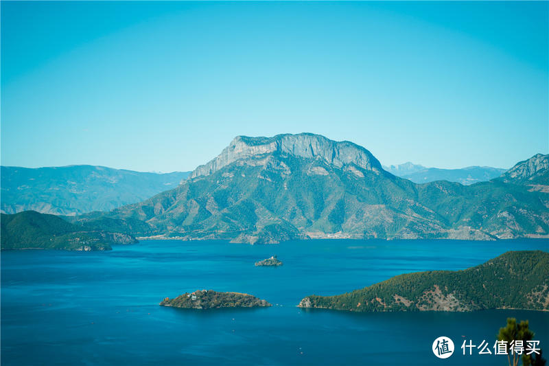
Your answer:
[[[276,245],[147,240],[109,252],[1,253],[2,365],[506,365],[463,356],[493,344],[507,317],[528,319],[549,354],[549,312],[352,313],[296,308],[414,271],[458,270],[549,240],[307,240]],[[255,267],[278,255],[284,265]],[[271,308],[185,310],[164,297],[237,291]],[[438,336],[456,350],[432,353]]]

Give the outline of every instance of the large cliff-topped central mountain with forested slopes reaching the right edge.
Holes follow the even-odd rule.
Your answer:
[[[497,179],[418,185],[362,146],[320,135],[236,137],[173,190],[74,220],[141,237],[250,243],[549,237],[549,196],[529,188]]]

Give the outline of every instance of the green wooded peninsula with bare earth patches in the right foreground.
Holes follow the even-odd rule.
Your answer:
[[[549,253],[509,251],[463,271],[408,273],[336,296],[308,296],[301,308],[358,312],[549,310]]]

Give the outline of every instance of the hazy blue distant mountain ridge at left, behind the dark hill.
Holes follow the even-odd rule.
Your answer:
[[[110,211],[176,187],[188,172],[132,172],[93,165],[1,167],[1,211],[75,215]]]

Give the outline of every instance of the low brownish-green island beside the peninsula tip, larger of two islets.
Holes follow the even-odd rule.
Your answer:
[[[160,306],[174,308],[211,309],[211,308],[255,308],[272,306],[267,301],[243,293],[218,293],[213,290],[196,290],[184,293],[174,299],[166,297]]]

